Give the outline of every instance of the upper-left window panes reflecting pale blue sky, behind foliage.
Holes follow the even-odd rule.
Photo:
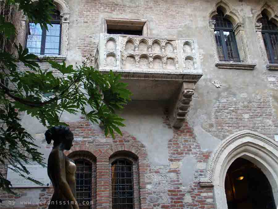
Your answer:
[[[61,51],[61,18],[60,12],[55,10],[51,15],[51,25],[41,28],[40,24],[29,23],[29,33],[27,36],[26,47],[29,53],[37,55],[60,55]]]

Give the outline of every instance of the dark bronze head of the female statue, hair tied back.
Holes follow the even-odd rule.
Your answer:
[[[50,144],[53,140],[54,147],[61,143],[64,145],[65,150],[70,150],[70,148],[72,147],[74,134],[70,131],[70,128],[67,126],[54,126],[48,129],[44,135],[48,144]]]

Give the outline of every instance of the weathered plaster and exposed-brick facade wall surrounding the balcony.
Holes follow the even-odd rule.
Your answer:
[[[145,175],[139,178],[143,184],[141,203],[145,208],[214,208],[212,188],[201,188],[198,179],[204,177],[208,158],[221,140],[243,129],[272,139],[278,135],[278,72],[266,70],[254,26],[255,15],[263,2],[228,2],[244,23],[250,62],[257,63],[252,71],[215,67],[215,46],[208,20],[216,0],[66,2],[70,7],[67,64],[81,63],[86,56],[95,53],[99,33],[103,32],[103,18],[144,19],[149,21],[151,37],[198,41],[204,76],[195,86],[187,121],[180,130],[173,130],[169,125],[164,114],[167,102],[131,102],[119,111],[126,119],[126,127],[122,129],[124,136],[117,136],[115,140],[104,137],[98,126],[80,119],[80,115],[63,114],[62,118],[70,122],[75,145],[80,150],[90,148],[102,153],[110,146],[141,146],[146,153],[144,166],[139,164],[139,173]],[[277,1],[268,2],[278,10]],[[216,88],[213,81],[220,81],[222,86]],[[24,114],[22,122],[37,139],[36,143],[42,146],[40,151],[47,158],[51,146],[44,141],[45,128]],[[28,189],[31,191],[37,190]],[[51,192],[43,191],[44,194]],[[15,198],[24,199],[24,195],[6,200]],[[97,203],[98,207],[107,208],[107,202],[109,200],[105,199],[103,203]]]

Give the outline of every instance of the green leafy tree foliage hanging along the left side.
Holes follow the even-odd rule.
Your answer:
[[[18,4],[30,21],[47,28],[50,14],[55,8],[52,0],[6,0],[7,4]],[[9,38],[16,35],[11,22],[5,22],[0,16],[0,33]],[[0,51],[0,163],[11,164],[19,175],[36,182],[27,175],[24,164],[44,165],[44,158],[37,151],[33,137],[21,126],[18,111],[26,111],[37,118],[44,126],[67,125],[60,121],[66,111],[72,114],[81,112],[92,123],[101,124],[105,135],[114,136],[124,119],[115,114],[130,100],[131,93],[127,84],[120,82],[120,75],[112,71],[103,74],[87,62],[74,67],[47,60],[54,70],[63,74],[55,77],[52,71],[43,70],[37,62],[37,56],[29,54],[20,43],[14,43],[17,55],[5,50]],[[90,58],[89,58],[90,59]],[[18,63],[29,70],[19,71]],[[90,111],[88,111],[88,109]],[[39,182],[36,182],[39,183]],[[12,193],[10,182],[0,173],[0,189]]]

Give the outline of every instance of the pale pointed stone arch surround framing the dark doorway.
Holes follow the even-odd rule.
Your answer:
[[[227,137],[213,152],[207,167],[207,178],[200,186],[213,187],[217,209],[228,209],[225,176],[235,159],[244,158],[259,167],[272,186],[275,204],[278,203],[278,145],[272,139],[252,131],[241,131]]]

